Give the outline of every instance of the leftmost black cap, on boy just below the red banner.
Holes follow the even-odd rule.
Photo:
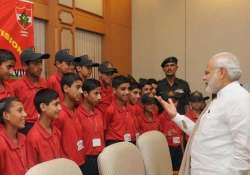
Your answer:
[[[42,54],[42,53],[35,52],[33,48],[27,48],[23,50],[20,57],[21,57],[22,62],[26,63],[27,61],[48,59],[50,55],[47,53]]]

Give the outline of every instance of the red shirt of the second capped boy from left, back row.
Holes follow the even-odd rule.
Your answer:
[[[64,100],[64,94],[61,88],[61,79],[62,77],[58,73],[54,73],[48,79],[48,86],[59,94],[60,101],[62,102]]]

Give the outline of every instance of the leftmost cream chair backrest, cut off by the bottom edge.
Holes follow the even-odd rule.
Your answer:
[[[78,165],[69,159],[53,159],[30,168],[25,175],[82,175]]]

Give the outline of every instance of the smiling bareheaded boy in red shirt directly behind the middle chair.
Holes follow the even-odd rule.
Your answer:
[[[122,141],[132,143],[136,141],[135,116],[128,103],[129,86],[130,81],[125,76],[119,75],[112,80],[114,99],[105,113],[106,145]]]

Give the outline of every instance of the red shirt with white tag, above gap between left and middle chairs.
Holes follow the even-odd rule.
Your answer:
[[[98,155],[105,146],[102,112],[94,109],[92,113],[89,113],[81,104],[76,113],[84,133],[86,155]]]

